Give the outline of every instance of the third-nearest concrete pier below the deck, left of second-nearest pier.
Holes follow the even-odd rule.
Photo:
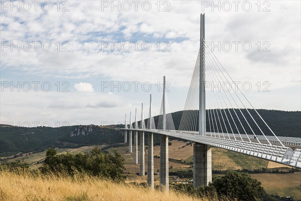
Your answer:
[[[147,139],[147,184],[154,189],[154,134],[148,133]]]

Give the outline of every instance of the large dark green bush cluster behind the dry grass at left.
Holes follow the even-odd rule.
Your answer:
[[[77,154],[57,154],[56,150],[48,149],[42,172],[52,172],[56,174],[74,175],[77,172],[88,173],[92,176],[100,176],[113,181],[124,181],[122,175],[124,168],[124,158],[114,150],[114,156],[104,153],[95,147],[89,153]]]

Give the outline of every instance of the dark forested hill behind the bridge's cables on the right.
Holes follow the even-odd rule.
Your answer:
[[[264,132],[265,135],[272,135],[272,133],[269,131],[269,129],[265,126],[264,122],[262,120],[260,120],[259,116],[256,114],[256,112],[254,110],[248,109],[249,113],[252,115],[252,117],[254,118],[254,120],[257,122],[257,124],[259,125],[259,127],[261,128],[261,130]],[[198,111],[191,111],[191,113],[195,112],[195,116],[198,117]],[[219,118],[221,121],[221,125],[219,124],[219,120],[217,117],[217,112],[219,114]],[[250,128],[247,126],[247,123],[245,122],[241,112],[243,113],[243,115],[245,116],[246,120],[248,121],[248,123],[250,124],[251,128],[253,129],[254,133],[256,135],[262,135],[260,130],[257,128],[256,124],[254,123],[254,121],[251,119],[250,115],[248,114],[248,112],[245,109],[242,109],[241,112],[238,109],[235,109],[235,112],[238,116],[238,118],[240,119],[242,125],[244,126],[244,130],[241,127],[236,114],[234,113],[234,111],[231,109],[231,115],[229,114],[229,111],[226,109],[226,114],[227,117],[229,119],[229,123],[232,127],[232,130],[234,133],[237,133],[237,130],[235,129],[235,125],[232,121],[231,115],[235,121],[235,124],[239,130],[239,132],[241,134],[244,134],[244,130],[248,133],[248,134],[252,134],[252,131],[250,130]],[[211,123],[211,130],[213,132],[213,124],[212,124],[212,120],[214,122],[214,128],[215,131],[217,131],[217,129],[221,132],[221,130],[223,130],[226,133],[226,129],[224,126],[224,123],[222,122],[222,117],[221,114],[223,115],[223,118],[226,122],[226,126],[227,126],[227,130],[230,133],[231,128],[230,125],[226,118],[225,112],[223,110],[219,111],[219,110],[214,110],[215,113],[215,117],[216,117],[216,122],[218,124],[218,128],[216,128],[216,124],[215,124],[215,118],[214,118],[214,114],[213,114],[213,110],[211,111],[212,114],[212,119],[211,119],[211,115],[210,115],[210,123]],[[263,118],[263,120],[267,123],[267,125],[271,128],[271,130],[277,135],[277,136],[285,136],[285,137],[301,137],[301,112],[300,111],[295,111],[295,112],[286,112],[286,111],[278,111],[278,110],[257,110],[257,112],[260,114],[260,116]],[[175,128],[176,130],[179,129],[179,125],[181,122],[181,118],[182,118],[182,114],[183,111],[179,111],[179,112],[175,112],[172,113],[172,117],[174,120],[174,124],[175,124]],[[159,116],[154,117],[155,119],[155,123],[156,123],[156,128],[158,125],[158,120],[159,120]],[[147,121],[145,121],[146,123]],[[198,122],[198,119],[196,120],[196,122]],[[209,118],[208,118],[208,111],[206,110],[206,129],[207,132],[210,132],[210,124],[209,124]],[[222,126],[222,129],[221,129]],[[197,125],[197,129],[198,130],[198,125]]]

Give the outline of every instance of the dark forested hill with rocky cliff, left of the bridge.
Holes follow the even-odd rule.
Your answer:
[[[1,125],[0,156],[40,152],[49,147],[76,148],[123,141],[119,131],[101,126],[12,127]]]

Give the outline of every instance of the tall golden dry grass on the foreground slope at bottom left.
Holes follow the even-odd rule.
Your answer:
[[[221,200],[217,195],[198,198],[171,190],[114,183],[97,177],[0,171],[0,200]],[[227,199],[229,200],[229,199]]]

